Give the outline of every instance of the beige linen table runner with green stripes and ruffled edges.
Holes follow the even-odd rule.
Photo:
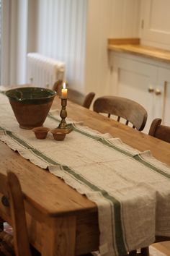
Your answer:
[[[20,129],[9,101],[0,93],[0,140],[90,200],[99,214],[102,255],[125,255],[147,247],[156,235],[170,236],[170,168],[149,151],[140,153],[120,139],[71,122],[64,141],[52,134],[37,140]],[[58,127],[50,111],[45,127]]]

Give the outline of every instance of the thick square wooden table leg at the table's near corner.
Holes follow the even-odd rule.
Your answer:
[[[76,216],[50,218],[44,225],[42,256],[74,256]]]

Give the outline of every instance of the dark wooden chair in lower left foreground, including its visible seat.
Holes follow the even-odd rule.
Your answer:
[[[2,204],[9,208],[14,236],[0,230],[0,255],[40,255],[30,247],[24,211],[24,195],[17,176],[9,171],[0,174],[0,197]]]

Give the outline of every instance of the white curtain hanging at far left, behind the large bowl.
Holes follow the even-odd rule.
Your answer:
[[[27,51],[34,49],[32,41],[28,40],[32,30],[32,3],[36,3],[36,0],[2,0],[1,85],[26,81]],[[35,8],[32,12],[36,12]]]

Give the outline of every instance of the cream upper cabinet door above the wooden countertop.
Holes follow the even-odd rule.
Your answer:
[[[142,43],[170,49],[169,0],[143,0]]]

